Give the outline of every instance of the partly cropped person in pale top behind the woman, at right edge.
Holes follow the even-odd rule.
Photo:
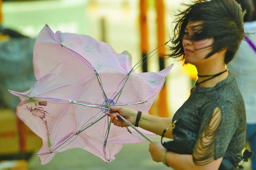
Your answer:
[[[245,100],[246,108],[246,141],[256,153],[256,0],[237,0],[243,10],[246,11],[243,18],[246,36],[250,42],[242,41],[240,48],[228,69],[237,80],[237,85]],[[250,44],[251,43],[251,44]],[[256,170],[256,155],[251,158],[251,168]]]

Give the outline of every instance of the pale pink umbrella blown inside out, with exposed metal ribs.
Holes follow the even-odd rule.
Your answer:
[[[147,113],[173,65],[159,73],[135,73],[127,52],[90,36],[53,33],[46,25],[34,47],[37,81],[20,93],[16,114],[42,138],[42,164],[56,152],[80,147],[111,162],[124,143],[143,142],[154,134],[110,126],[110,105]],[[146,138],[146,139],[145,139]]]

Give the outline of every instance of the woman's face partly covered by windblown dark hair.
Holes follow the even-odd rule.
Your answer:
[[[205,62],[208,59],[205,59],[207,54],[212,52],[212,44],[213,38],[200,40],[200,41],[192,41],[189,40],[188,37],[193,35],[192,27],[200,25],[201,22],[188,22],[187,27],[185,28],[185,35],[183,37],[182,45],[185,53],[185,61],[187,63],[191,63],[192,65],[197,65],[201,62]],[[200,26],[199,26],[200,27]]]

